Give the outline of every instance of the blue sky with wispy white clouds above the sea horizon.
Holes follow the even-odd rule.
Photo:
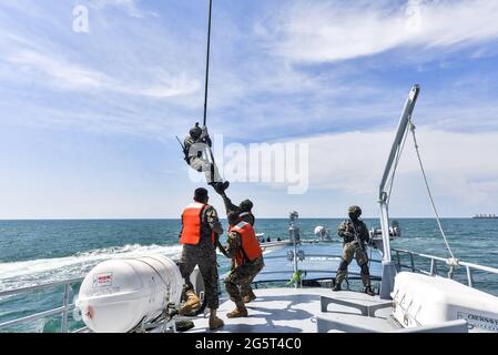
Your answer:
[[[72,30],[75,6],[89,33]],[[214,0],[211,132],[311,146],[306,194],[235,183],[231,195],[260,216],[353,203],[376,216],[419,83],[414,121],[441,214],[498,213],[497,13],[487,0]],[[3,1],[0,219],[176,217],[199,185],[174,135],[202,116],[206,16],[206,0]],[[413,146],[392,203],[430,215]]]

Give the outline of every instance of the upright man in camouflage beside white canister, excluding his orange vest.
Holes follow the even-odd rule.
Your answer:
[[[190,281],[190,275],[199,265],[202,278],[204,281],[205,297],[210,314],[210,328],[216,329],[223,326],[223,321],[216,317],[216,310],[218,308],[218,273],[216,262],[216,244],[212,241],[212,232],[217,236],[223,234],[223,227],[217,217],[216,210],[207,205],[209,196],[207,190],[195,190],[194,201],[206,204],[201,212],[201,239],[199,244],[184,244],[182,256],[179,262],[180,273],[185,280],[183,286],[183,298],[186,302],[180,310],[181,315],[187,315],[191,312],[201,307],[201,301],[194,293],[194,286]],[[183,219],[183,217],[182,217]],[[217,237],[216,236],[216,237]]]

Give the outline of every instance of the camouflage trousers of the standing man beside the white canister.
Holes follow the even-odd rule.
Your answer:
[[[202,239],[197,245],[183,245],[182,257],[179,263],[180,273],[185,280],[183,295],[187,291],[194,290],[190,275],[194,271],[195,265],[199,265],[202,280],[204,281],[207,307],[217,310],[220,300],[216,248],[209,239]]]

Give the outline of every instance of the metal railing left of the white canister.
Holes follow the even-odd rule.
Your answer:
[[[69,312],[74,310],[74,303],[71,303],[69,300],[70,294],[71,294],[70,293],[71,285],[75,284],[75,283],[81,283],[83,281],[83,278],[84,277],[78,277],[78,278],[64,280],[64,281],[54,282],[54,283],[44,284],[44,285],[37,285],[37,286],[30,286],[30,287],[16,288],[16,290],[0,292],[0,300],[1,300],[2,297],[6,297],[6,296],[29,294],[29,293],[33,293],[33,292],[45,291],[45,290],[63,286],[62,305],[60,307],[51,308],[49,311],[39,312],[39,313],[32,314],[32,315],[29,315],[26,317],[0,323],[0,331],[3,328],[26,324],[28,322],[34,322],[34,321],[39,321],[39,320],[47,318],[50,316],[60,315],[61,316],[61,333],[68,333]],[[85,328],[81,328],[81,329],[78,329],[77,333],[84,332],[84,331],[85,331]]]

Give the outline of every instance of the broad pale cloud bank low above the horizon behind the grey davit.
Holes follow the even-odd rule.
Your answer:
[[[275,205],[270,201],[265,202],[264,207],[258,206],[258,211],[265,215],[277,216],[275,211],[286,213],[286,209],[293,207],[292,204],[298,205],[299,211],[309,216],[342,215],[345,206],[357,203],[364,207],[366,215],[375,216],[378,214],[378,187],[394,132],[395,128],[268,142],[294,146],[307,144],[309,148],[308,169],[301,165],[298,170],[292,169],[302,180],[308,181],[309,190],[303,196],[293,195],[293,199],[286,196],[286,189],[293,183],[286,180],[288,176],[284,176],[287,171],[285,165],[284,169],[281,165],[285,164],[284,160],[273,161],[274,166],[281,166],[280,176],[285,178],[280,183],[275,182],[276,172],[272,169],[264,173],[268,178],[273,176],[272,182],[262,182],[261,161],[257,158],[253,160],[252,155],[235,155],[234,160],[227,150],[227,160],[218,154],[216,161],[225,163],[222,165],[226,169],[224,176],[232,182],[238,181],[237,174],[232,170],[238,164],[244,164],[247,169],[241,176],[244,179],[247,174],[252,176],[251,181],[256,182],[251,184],[245,181],[236,191],[248,190],[258,195],[260,200],[265,200],[261,191],[275,196],[283,195],[282,203],[286,203],[285,205]],[[430,126],[416,129],[416,133],[429,184],[444,216],[468,216],[479,211],[496,211],[498,156],[495,152],[498,151],[498,141],[495,133],[448,132]],[[234,146],[230,148],[230,152],[234,152],[233,149]],[[308,180],[302,176],[307,172]],[[396,174],[392,207],[395,215],[428,216],[433,213],[411,136],[408,136]]]

